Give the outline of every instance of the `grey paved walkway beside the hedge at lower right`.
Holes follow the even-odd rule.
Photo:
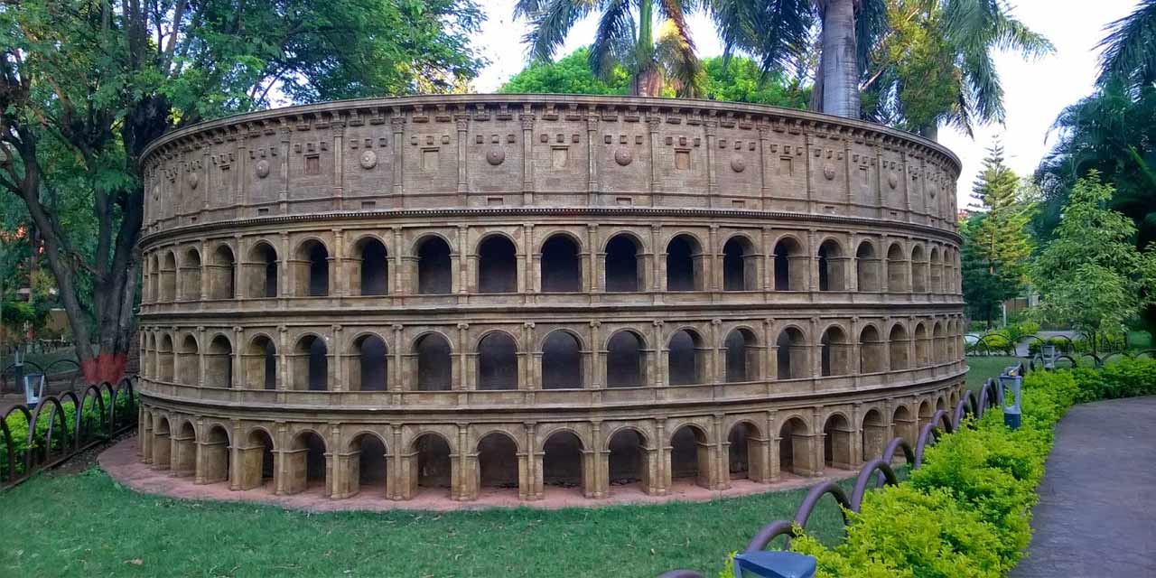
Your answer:
[[[1031,525],[1013,578],[1156,577],[1156,397],[1068,412]]]

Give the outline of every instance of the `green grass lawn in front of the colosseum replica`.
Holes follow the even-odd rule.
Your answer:
[[[307,513],[136,494],[98,468],[0,494],[0,576],[713,577],[805,490],[646,506]],[[808,529],[842,536],[824,498]]]

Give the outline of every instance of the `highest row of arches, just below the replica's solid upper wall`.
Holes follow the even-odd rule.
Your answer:
[[[212,250],[203,242],[150,251],[143,302],[458,292],[957,294],[959,287],[955,247],[883,237],[852,242],[845,235],[735,230],[704,238],[675,229],[665,240],[621,230],[595,242],[557,230],[542,235],[528,257],[527,243],[507,231],[482,232],[468,251],[439,232],[408,244],[400,230],[393,237],[362,234],[348,250],[343,237],[309,235],[292,245],[257,237],[247,239],[239,264],[236,240]]]

